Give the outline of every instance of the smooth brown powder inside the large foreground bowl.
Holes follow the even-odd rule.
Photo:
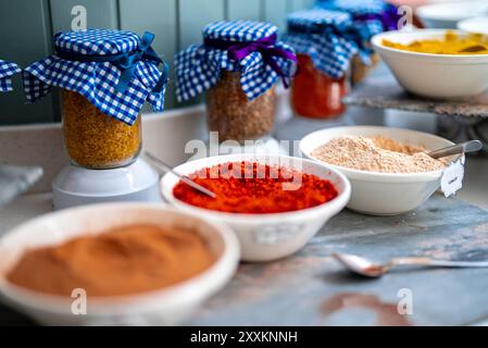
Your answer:
[[[164,288],[213,263],[209,246],[193,231],[129,225],[29,250],[7,278],[40,293],[70,296],[83,288],[88,296],[105,297]]]

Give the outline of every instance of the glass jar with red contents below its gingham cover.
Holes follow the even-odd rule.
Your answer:
[[[298,54],[300,72],[291,84],[291,105],[296,114],[313,119],[334,119],[346,107],[342,97],[348,94],[346,75],[334,79],[318,71],[308,54]]]

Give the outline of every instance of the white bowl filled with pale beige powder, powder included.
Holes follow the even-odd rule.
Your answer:
[[[396,215],[417,209],[439,188],[442,172],[454,158],[435,160],[427,153],[450,145],[422,132],[350,126],[309,134],[300,141],[300,151],[349,178],[349,209]]]

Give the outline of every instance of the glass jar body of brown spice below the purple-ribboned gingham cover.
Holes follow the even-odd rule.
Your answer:
[[[207,92],[209,129],[218,132],[218,140],[253,140],[273,130],[275,88],[249,100],[240,84],[240,73],[222,72],[218,83]]]

